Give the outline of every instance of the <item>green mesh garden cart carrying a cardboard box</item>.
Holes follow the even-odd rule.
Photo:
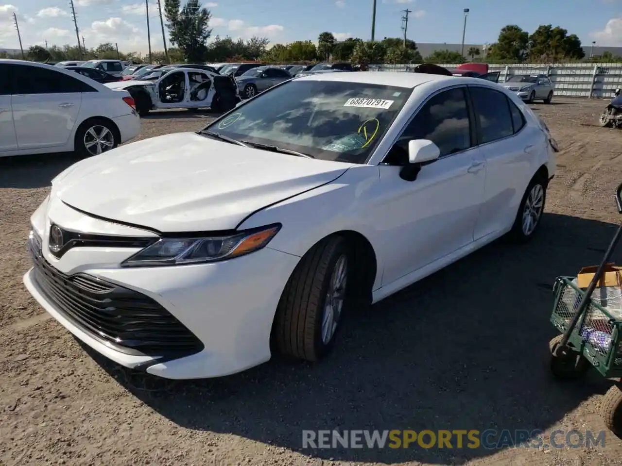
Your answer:
[[[622,184],[615,199],[622,214]],[[622,288],[597,286],[604,284],[605,273],[622,276],[622,268],[609,263],[620,237],[622,224],[587,288],[580,288],[576,277],[560,276],[555,280],[550,321],[562,333],[550,340],[549,349],[550,370],[560,380],[577,379],[590,367],[614,379],[600,414],[607,428],[622,438]]]

